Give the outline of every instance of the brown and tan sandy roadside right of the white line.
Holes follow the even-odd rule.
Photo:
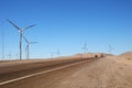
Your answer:
[[[105,57],[51,72],[0,88],[131,88],[132,63]]]

